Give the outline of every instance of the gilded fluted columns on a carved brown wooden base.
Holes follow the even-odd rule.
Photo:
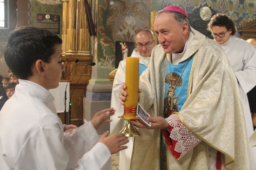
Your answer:
[[[84,67],[92,62],[92,56],[90,55],[90,36],[87,27],[84,0],[62,0],[62,3],[62,62],[64,62],[65,71],[62,73],[61,82],[67,82],[70,78],[71,94]],[[75,64],[76,59],[79,59],[79,62]],[[73,66],[74,68],[71,73]],[[67,107],[67,124],[69,122],[77,126],[83,124],[83,99],[90,79],[91,66],[88,65],[70,99],[72,103],[70,121]],[[67,103],[69,103],[68,100]],[[64,113],[58,113],[58,116],[64,124]]]

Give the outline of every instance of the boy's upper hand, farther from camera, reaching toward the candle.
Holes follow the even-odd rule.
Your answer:
[[[93,124],[95,129],[98,130],[98,128],[103,123],[111,122],[112,120],[107,119],[107,118],[111,117],[114,114],[115,114],[115,110],[113,108],[101,110],[101,111],[95,113],[93,119],[91,119],[91,123]]]

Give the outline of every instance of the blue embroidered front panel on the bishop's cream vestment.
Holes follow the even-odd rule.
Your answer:
[[[173,112],[179,112],[182,106],[187,100],[187,91],[188,91],[188,82],[191,72],[191,67],[193,64],[194,55],[190,57],[186,68],[184,69],[187,60],[179,63],[178,65],[170,64],[170,73],[169,66],[166,69],[166,78],[165,78],[165,99],[164,99],[164,108],[163,108],[163,117],[168,118]],[[168,62],[169,64],[169,62]],[[184,72],[180,77],[182,71]],[[180,77],[180,79],[179,79]],[[179,82],[177,83],[177,80]],[[177,84],[177,85],[176,85]],[[175,87],[176,85],[176,87]],[[175,90],[175,94],[170,93],[170,89]],[[168,130],[165,130],[168,133],[168,138],[170,133]],[[167,135],[166,135],[167,136]],[[170,140],[169,140],[170,141]],[[166,152],[166,140],[161,131],[160,137],[160,169],[167,170],[167,152]]]

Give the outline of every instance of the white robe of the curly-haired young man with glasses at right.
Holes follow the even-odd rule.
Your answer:
[[[228,60],[234,69],[244,110],[248,138],[253,134],[253,123],[248,103],[247,93],[256,85],[256,49],[254,46],[238,37],[230,36],[221,44]],[[250,147],[252,168],[256,169],[256,147]]]

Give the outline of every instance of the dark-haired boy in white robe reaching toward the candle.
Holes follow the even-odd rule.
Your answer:
[[[124,134],[100,138],[97,129],[114,114],[109,108],[69,133],[57,116],[49,89],[59,86],[64,66],[61,38],[37,27],[14,30],[5,62],[19,78],[14,95],[0,111],[0,169],[101,169],[111,154],[126,149]]]

